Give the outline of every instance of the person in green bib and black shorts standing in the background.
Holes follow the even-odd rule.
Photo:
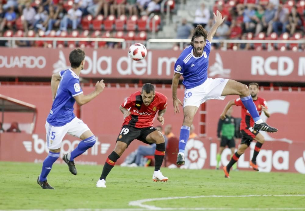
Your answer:
[[[217,127],[217,137],[220,140],[219,150],[216,156],[216,169],[219,169],[219,163],[221,160],[221,153],[224,148],[228,146],[231,149],[232,154],[235,151],[235,118],[231,116],[233,107],[230,107],[226,113],[225,118],[220,118]],[[233,169],[236,170],[237,166],[233,165]]]

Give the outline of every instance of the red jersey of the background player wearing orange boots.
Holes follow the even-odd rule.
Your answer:
[[[237,98],[235,101],[235,105],[242,107],[242,121],[240,122],[240,129],[248,129],[249,127],[253,127],[254,120],[251,117],[251,114],[246,109],[240,98]],[[266,100],[264,98],[258,97],[257,100],[253,100],[256,109],[258,111],[258,114],[262,113],[262,106],[267,107]]]

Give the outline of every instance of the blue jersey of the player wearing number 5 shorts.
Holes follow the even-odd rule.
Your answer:
[[[59,72],[61,80],[47,117],[47,122],[53,126],[63,126],[75,118],[73,106],[74,97],[83,93],[79,84],[79,76],[71,69]]]

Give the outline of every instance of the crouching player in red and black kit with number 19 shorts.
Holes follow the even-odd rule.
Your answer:
[[[96,187],[106,188],[107,175],[134,139],[138,139],[147,144],[156,143],[155,171],[152,175],[152,180],[161,182],[168,180],[160,172],[165,155],[165,140],[162,133],[152,125],[157,111],[157,120],[160,121],[161,125],[164,124],[163,115],[165,114],[166,106],[167,97],[159,92],[155,92],[155,87],[151,83],[144,84],[142,91],[133,93],[120,105],[120,111],[125,118],[123,127],[117,138],[113,152],[106,160],[102,175],[96,183]]]

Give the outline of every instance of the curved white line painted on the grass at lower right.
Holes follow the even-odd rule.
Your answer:
[[[158,201],[158,200],[171,200],[171,199],[196,199],[196,198],[230,198],[230,197],[266,197],[266,196],[276,196],[276,197],[283,197],[283,196],[305,196],[303,195],[201,195],[201,196],[177,196],[177,197],[164,197],[164,198],[154,198],[154,199],[141,199],[137,201],[131,201],[129,202],[129,206],[138,206],[141,208],[146,208],[150,210],[165,210],[166,208],[161,208],[161,207],[156,207],[156,206],[151,206],[151,205],[145,205],[142,203],[145,202],[152,202],[152,201]],[[179,209],[179,208],[177,208]],[[184,208],[183,208],[184,209]],[[188,208],[190,209],[190,208]],[[196,208],[195,208],[196,209]],[[209,208],[204,208],[204,209],[209,209]],[[222,208],[218,208],[222,209]],[[228,209],[228,208],[226,208]],[[270,208],[269,208],[270,209]],[[275,209],[275,208],[272,208]],[[304,208],[303,208],[304,209]]]

